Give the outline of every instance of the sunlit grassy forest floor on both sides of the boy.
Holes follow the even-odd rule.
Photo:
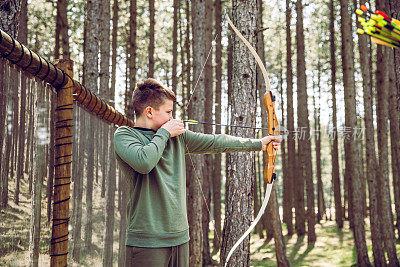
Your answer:
[[[22,180],[21,188],[26,189],[26,180]],[[43,190],[45,188],[43,187]],[[25,191],[25,190],[23,190]],[[27,190],[26,190],[27,191]],[[26,192],[25,191],[25,192]],[[98,195],[94,193],[94,196]],[[10,192],[13,195],[13,192]],[[20,197],[20,205],[14,204],[11,197],[10,206],[0,212],[0,266],[28,266],[29,265],[29,227],[30,227],[30,201],[26,193]],[[97,222],[102,220],[103,212],[101,207],[103,201],[95,205],[94,216]],[[104,206],[103,206],[104,207]],[[46,200],[42,200],[42,234],[40,239],[39,266],[49,266],[49,243],[50,226],[46,218]],[[368,220],[366,220],[368,223]],[[114,232],[114,266],[117,266],[118,258],[118,221],[116,221]],[[367,245],[370,260],[372,261],[371,238],[369,225],[367,228]],[[93,252],[86,254],[81,263],[78,264],[69,260],[69,266],[101,266],[102,258],[102,233],[103,223],[96,223],[93,230]],[[70,230],[71,232],[71,230]],[[285,229],[284,229],[285,234]],[[316,226],[317,241],[312,247],[307,245],[307,236],[298,238],[285,236],[287,241],[286,255],[291,266],[351,266],[356,263],[356,252],[354,247],[353,233],[346,221],[344,228],[338,230],[334,221],[322,221]],[[400,256],[400,242],[397,244],[398,256]],[[219,253],[214,255],[215,260],[219,259]],[[266,242],[260,239],[259,235],[251,237],[251,266],[276,266],[274,241]]]

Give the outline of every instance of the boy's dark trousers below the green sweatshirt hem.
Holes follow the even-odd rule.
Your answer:
[[[188,267],[189,242],[175,247],[141,248],[126,246],[126,267]]]

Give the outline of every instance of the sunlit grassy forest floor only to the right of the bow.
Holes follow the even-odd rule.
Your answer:
[[[366,220],[366,240],[369,259],[372,262],[372,243],[368,220]],[[353,266],[357,262],[353,232],[349,222],[343,229],[336,227],[335,221],[321,221],[316,225],[317,241],[307,244],[307,234],[302,237],[285,236],[286,255],[291,266]],[[285,234],[285,232],[284,232]],[[400,258],[400,242],[396,243],[397,257]],[[274,240],[265,242],[259,235],[252,235],[250,246],[251,266],[277,266]]]

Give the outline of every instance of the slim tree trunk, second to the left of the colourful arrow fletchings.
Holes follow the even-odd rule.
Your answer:
[[[335,221],[339,229],[343,228],[343,207],[342,193],[340,186],[339,173],[339,141],[337,129],[337,108],[336,108],[336,44],[335,44],[335,0],[330,0],[330,64],[331,64],[331,86],[332,86],[332,124],[333,124],[333,142],[332,142],[332,184],[333,196],[335,201]]]

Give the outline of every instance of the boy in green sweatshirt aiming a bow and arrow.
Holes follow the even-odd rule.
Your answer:
[[[186,130],[172,118],[174,93],[154,79],[133,93],[135,127],[114,134],[117,162],[127,181],[126,266],[189,266],[186,153],[265,150],[272,136],[247,139]]]

